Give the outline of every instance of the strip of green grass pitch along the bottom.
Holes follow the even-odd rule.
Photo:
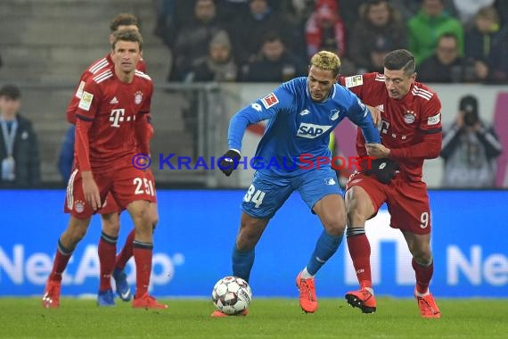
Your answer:
[[[162,300],[161,300],[162,301]],[[304,314],[297,299],[254,299],[247,317],[210,318],[211,301],[169,299],[168,310],[134,310],[116,300],[62,298],[57,310],[40,298],[0,298],[0,338],[507,338],[508,300],[438,299],[439,319],[421,318],[414,299],[377,299],[373,315],[343,299],[321,299]]]

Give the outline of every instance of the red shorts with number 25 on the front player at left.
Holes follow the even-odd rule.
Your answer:
[[[110,209],[106,203],[104,211],[109,210],[110,213],[123,211],[129,203],[137,200],[146,200],[151,203],[155,201],[153,183],[143,170],[126,167],[108,173],[94,174],[94,180],[99,187],[102,205],[106,202],[108,194],[111,195],[111,201],[115,204]],[[83,178],[78,169],[72,172],[67,184],[64,211],[78,219],[86,219],[97,212],[85,201]],[[106,214],[104,211],[101,213]]]

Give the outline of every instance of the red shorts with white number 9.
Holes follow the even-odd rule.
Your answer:
[[[360,186],[369,194],[376,213],[382,203],[387,204],[390,227],[417,235],[430,233],[429,194],[424,182],[409,181],[397,174],[389,185],[384,185],[376,178],[356,172],[349,177],[346,190],[352,186]]]

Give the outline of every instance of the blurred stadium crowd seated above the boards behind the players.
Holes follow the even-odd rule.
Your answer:
[[[363,74],[382,70],[384,55],[397,48],[414,53],[425,81],[508,80],[505,1],[158,0],[156,6],[155,34],[172,54],[169,81],[285,81],[306,75],[319,50],[340,55],[343,75]],[[449,41],[442,44],[443,36]]]

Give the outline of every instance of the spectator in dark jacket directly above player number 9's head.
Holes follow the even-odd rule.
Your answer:
[[[356,72],[383,71],[383,58],[389,51],[406,48],[406,25],[388,0],[369,0],[361,8],[360,21],[349,35],[349,58]]]

